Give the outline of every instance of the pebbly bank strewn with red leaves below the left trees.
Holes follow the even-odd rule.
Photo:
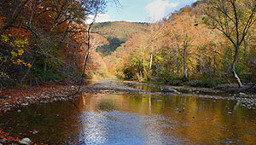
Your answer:
[[[15,108],[46,102],[57,102],[72,99],[75,87],[72,85],[47,84],[40,87],[0,89],[0,116],[13,111]],[[66,96],[66,97],[65,97]],[[20,110],[17,110],[19,112]],[[10,136],[6,129],[0,128],[0,145],[19,144],[21,138]],[[32,144],[37,144],[33,143]]]

